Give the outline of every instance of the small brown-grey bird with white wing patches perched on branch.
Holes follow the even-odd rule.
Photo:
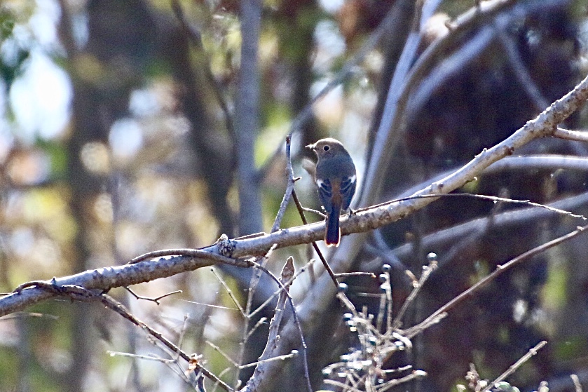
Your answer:
[[[341,229],[339,215],[349,208],[355,194],[355,164],[348,151],[339,140],[327,137],[306,146],[317,154],[315,183],[320,202],[327,212],[327,229],[324,242],[327,246],[339,246]]]

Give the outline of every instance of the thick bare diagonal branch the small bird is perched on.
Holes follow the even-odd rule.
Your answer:
[[[505,156],[513,154],[515,149],[535,140],[538,137],[553,135],[559,123],[564,121],[575,111],[580,104],[588,99],[588,77],[578,84],[570,93],[554,102],[545,109],[536,119],[528,121],[522,128],[517,130],[507,140],[495,145],[491,149],[484,149],[472,161],[465,164],[441,180],[433,182],[430,186],[418,191],[414,196],[428,194],[446,194],[458,187],[463,186],[476,175],[482,173],[489,165],[499,161]],[[376,208],[369,208],[341,219],[341,234],[365,233],[371,229],[382,227],[419,210],[425,205],[432,203],[435,198],[416,198],[408,201],[380,205]],[[173,276],[176,273],[193,271],[202,266],[212,264],[229,263],[239,266],[248,266],[247,262],[235,260],[240,257],[252,255],[263,255],[274,244],[278,248],[285,248],[291,245],[300,245],[312,241],[320,241],[324,233],[324,222],[308,224],[301,227],[282,229],[272,234],[266,234],[253,238],[242,238],[235,240],[218,241],[214,245],[200,250],[170,250],[167,255],[178,255],[169,259],[158,261],[142,261],[124,266],[113,266],[93,271],[85,271],[74,276],[56,278],[52,281],[55,285],[78,285],[86,289],[109,290],[110,288],[133,285],[157,278]],[[348,271],[350,263],[358,249],[360,241],[364,236],[353,236],[351,241],[343,241],[337,248],[331,261],[334,271]],[[154,255],[163,255],[158,252]],[[334,295],[334,286],[327,280],[321,278],[317,281],[313,292],[320,296]],[[50,292],[39,288],[28,288],[0,298],[0,316],[25,309],[26,306],[53,297]],[[309,295],[306,301],[312,301],[308,308],[301,313],[301,318],[316,317],[321,313],[322,306],[326,301],[317,301],[313,295]],[[308,313],[306,313],[308,312]],[[286,340],[286,339],[284,339]]]

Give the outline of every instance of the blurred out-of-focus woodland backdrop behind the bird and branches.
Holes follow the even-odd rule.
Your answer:
[[[389,151],[383,190],[375,196],[379,201],[425,184],[500,142],[586,74],[586,1],[508,3],[518,6],[519,14],[505,26],[496,22],[495,36],[477,47],[476,55],[468,59],[461,49],[492,21],[479,20],[435,53],[425,69],[431,79],[437,75],[434,88],[426,90],[423,84],[421,90],[406,90],[404,132]],[[469,0],[441,1],[421,28],[418,55],[451,34],[453,18],[472,6]],[[388,86],[421,2],[264,1],[259,102],[251,98],[259,104],[259,126],[245,135],[253,140],[254,198],[261,215],[254,214],[254,206],[239,206],[240,182],[248,181],[240,178],[240,154],[247,147],[235,103],[243,79],[241,7],[233,0],[0,1],[1,291],[25,281],[124,264],[150,250],[198,248],[221,234],[268,231],[285,189],[285,158],[273,158],[275,151],[283,148],[296,115],[392,10],[399,17],[378,45],[314,105],[294,137],[294,170],[303,177],[297,189],[305,205],[318,208],[310,175],[302,168],[303,157],[310,157],[303,146],[320,137],[346,144],[362,181]],[[521,83],[521,66],[530,78],[526,83]],[[566,123],[585,125],[583,112]],[[521,154],[587,156],[588,146],[540,140]],[[479,177],[462,191],[548,203],[583,194],[587,177],[582,170],[524,166]],[[410,292],[404,269],[418,276],[427,253],[437,252],[439,271],[404,319],[412,325],[497,264],[577,224],[562,217],[528,217],[431,248],[422,245],[423,238],[443,228],[509,208],[457,199],[433,203],[378,230],[354,268],[378,273],[384,262],[395,266],[398,309]],[[244,224],[251,218],[244,212],[259,215],[252,222],[261,224]],[[587,206],[578,205],[575,212],[588,215]],[[297,213],[289,209],[282,227],[298,224]],[[411,250],[400,252],[403,244]],[[579,238],[501,276],[483,295],[418,337],[411,353],[390,363],[412,363],[429,373],[402,388],[449,391],[464,382],[469,363],[493,379],[541,339],[549,341],[547,349],[519,370],[512,384],[531,390],[546,380],[553,391],[572,390],[572,372],[587,382],[587,254],[586,240]],[[279,271],[288,255],[299,267],[312,256],[302,246],[280,250],[269,262],[271,269]],[[220,272],[243,299],[249,276]],[[292,288],[294,298],[312,283],[312,273],[302,275]],[[348,283],[358,307],[377,311],[378,302],[369,294],[377,292],[378,282],[357,278]],[[202,353],[216,374],[231,368],[222,377],[227,382],[238,377],[205,344],[212,341],[235,358],[242,338],[243,320],[210,269],[133,290],[149,297],[182,290],[159,306],[123,290],[112,294],[167,336],[182,337],[184,349]],[[256,303],[273,290],[268,283]],[[177,374],[181,369],[109,356],[108,351],[156,349],[142,332],[100,306],[53,301],[29,311],[0,319],[0,391],[191,390]],[[333,300],[331,312],[310,329],[315,389],[321,386],[320,369],[356,344],[341,313]],[[266,332],[259,328],[249,341],[247,360],[259,356]],[[300,379],[294,367],[275,381],[275,390],[298,391]]]

